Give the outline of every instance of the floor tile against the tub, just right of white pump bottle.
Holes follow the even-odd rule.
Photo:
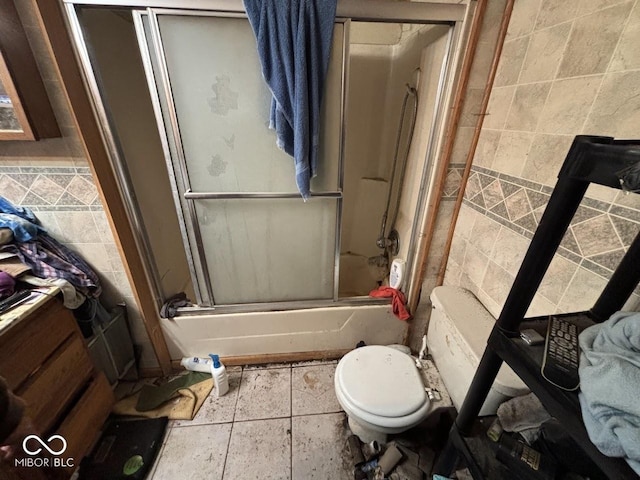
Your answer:
[[[291,415],[291,368],[244,370],[235,421]]]

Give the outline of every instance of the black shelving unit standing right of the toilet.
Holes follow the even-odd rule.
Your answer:
[[[447,446],[436,465],[437,473],[449,475],[462,458],[475,480],[485,478],[469,444],[477,438],[473,430],[478,413],[502,362],[506,362],[538,396],[549,413],[562,422],[567,433],[597,466],[599,472],[593,472],[593,478],[638,478],[623,459],[603,455],[589,440],[582,422],[578,394],[555,387],[542,377],[540,367],[544,347],[532,347],[520,339],[520,329],[524,328],[534,328],[543,335],[546,333],[548,317],[525,319],[524,316],[591,183],[640,190],[640,140],[595,136],[577,136],[574,139],[544,215],[491,332],[469,392],[451,428]],[[561,316],[575,323],[580,330],[603,322],[622,309],[639,282],[640,233],[593,308],[587,312]]]

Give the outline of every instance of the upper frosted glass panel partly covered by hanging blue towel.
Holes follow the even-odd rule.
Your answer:
[[[293,159],[268,128],[271,94],[248,20],[160,15],[158,22],[191,189],[296,192]],[[338,182],[341,26],[334,36],[314,191],[336,190]]]

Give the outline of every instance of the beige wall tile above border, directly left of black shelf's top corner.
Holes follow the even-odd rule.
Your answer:
[[[537,134],[533,138],[522,176],[527,180],[555,185],[573,135]]]

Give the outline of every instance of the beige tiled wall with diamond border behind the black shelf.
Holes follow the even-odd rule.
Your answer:
[[[445,283],[499,313],[573,137],[640,138],[638,45],[637,0],[515,3]],[[460,138],[470,138],[473,116],[471,101]],[[460,169],[449,172],[451,188]],[[592,305],[640,228],[639,198],[589,188],[532,313]]]

